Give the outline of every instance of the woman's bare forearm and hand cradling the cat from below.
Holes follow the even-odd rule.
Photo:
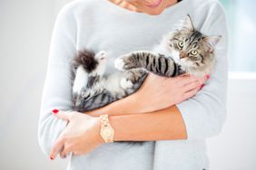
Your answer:
[[[198,90],[201,90],[209,77],[207,75],[200,79],[184,74],[174,78],[165,78],[150,73],[142,87],[132,95],[86,113],[92,116],[99,116],[103,113],[128,115],[166,109],[192,98]]]

